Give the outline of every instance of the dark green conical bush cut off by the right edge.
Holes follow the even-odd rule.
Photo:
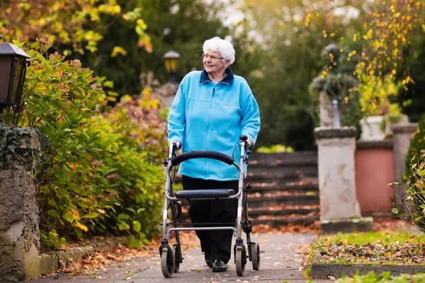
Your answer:
[[[405,180],[409,185],[408,199],[411,200],[414,212],[410,212],[414,224],[425,229],[425,115],[419,121],[419,127],[414,132],[405,161]]]

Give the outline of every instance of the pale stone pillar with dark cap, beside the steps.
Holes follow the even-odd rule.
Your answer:
[[[356,197],[355,127],[318,127],[320,229],[322,233],[368,231],[373,219],[362,217]]]

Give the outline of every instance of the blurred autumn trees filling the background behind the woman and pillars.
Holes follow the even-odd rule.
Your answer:
[[[204,40],[215,35],[232,40],[237,52],[232,69],[249,82],[261,108],[260,146],[314,149],[317,98],[309,85],[326,76],[321,54],[329,43],[341,47],[341,73],[367,86],[365,114],[380,112],[382,100],[399,105],[412,121],[425,110],[421,1],[11,0],[0,5],[6,40],[46,37],[52,50],[80,59],[113,82],[103,85],[118,97],[147,87],[141,74],[152,72],[157,84],[168,82],[162,56],[169,50],[181,54],[179,81],[202,68]],[[397,96],[375,95],[382,93],[375,90],[385,76],[400,86]]]

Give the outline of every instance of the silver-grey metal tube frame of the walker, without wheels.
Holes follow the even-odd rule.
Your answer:
[[[222,200],[228,200],[228,199],[238,199],[237,202],[237,229],[234,227],[229,226],[215,226],[215,227],[176,227],[177,225],[174,224],[174,228],[168,229],[167,231],[167,219],[168,219],[168,201],[169,200],[182,200],[177,197],[171,196],[171,168],[173,168],[173,164],[171,164],[171,159],[173,158],[173,150],[174,150],[175,144],[169,145],[169,154],[168,154],[168,165],[167,165],[167,171],[166,171],[166,179],[165,179],[165,197],[164,197],[164,212],[162,214],[162,238],[163,240],[167,240],[171,238],[171,231],[206,231],[206,230],[232,230],[234,231],[234,236],[237,238],[242,238],[242,190],[244,187],[244,162],[245,162],[245,141],[239,141],[239,146],[241,147],[241,155],[239,158],[239,165],[237,163],[233,162],[233,166],[237,168],[237,171],[239,172],[239,183],[238,183],[238,192],[236,195],[232,195],[229,197],[220,197]],[[184,161],[183,161],[184,162]],[[194,197],[191,198],[191,200],[216,200],[215,197]],[[174,215],[173,215],[174,217]]]

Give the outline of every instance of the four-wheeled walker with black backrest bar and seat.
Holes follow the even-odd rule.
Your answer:
[[[239,137],[239,145],[241,147],[241,155],[239,165],[234,162],[233,158],[222,154],[217,151],[188,151],[184,154],[176,156],[174,149],[176,144],[169,145],[168,158],[164,159],[164,166],[167,167],[166,180],[165,180],[165,197],[164,197],[164,212],[162,215],[162,241],[159,246],[159,255],[161,257],[161,269],[164,277],[172,277],[174,272],[179,272],[180,264],[183,262],[181,256],[181,245],[179,238],[179,231],[205,231],[205,230],[232,230],[236,243],[234,244],[234,263],[236,265],[236,273],[238,276],[243,276],[245,271],[246,259],[252,262],[252,269],[259,270],[260,267],[260,246],[259,243],[251,241],[250,233],[252,231],[251,220],[248,219],[248,202],[247,191],[251,189],[251,185],[246,185],[246,172],[244,172],[244,165],[248,164],[249,151],[246,136]],[[193,158],[211,158],[218,161],[227,163],[229,166],[235,166],[239,171],[239,190],[235,194],[232,189],[214,189],[214,190],[182,190],[173,192],[174,177],[171,177],[171,169],[178,166],[181,162]],[[177,222],[181,214],[181,200],[226,200],[237,199],[237,221],[233,226],[213,226],[211,224],[225,224],[225,223],[205,223],[196,224],[182,224]],[[171,221],[169,222],[168,210],[171,208]],[[229,224],[229,223],[226,223]],[[205,225],[205,227],[203,227]],[[172,226],[172,228],[169,228]],[[200,227],[199,227],[200,226]],[[235,228],[236,226],[236,228]],[[246,244],[248,246],[248,255],[246,255],[246,248],[244,240],[242,239],[242,230],[246,233]],[[169,238],[171,232],[176,233],[176,243],[169,246]]]

